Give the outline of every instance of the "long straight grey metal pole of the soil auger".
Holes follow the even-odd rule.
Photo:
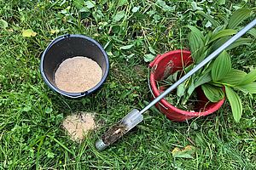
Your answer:
[[[196,65],[195,68],[193,68],[191,71],[189,71],[185,76],[181,77],[177,82],[173,83],[170,88],[167,88],[166,91],[163,94],[160,94],[157,98],[155,98],[153,101],[151,101],[142,111],[140,111],[141,114],[143,114],[145,111],[148,111],[150,107],[152,107],[154,104],[160,101],[160,99],[163,99],[166,94],[169,94],[177,88],[178,85],[180,85],[182,82],[187,80],[189,77],[191,77],[196,71],[200,70],[204,65],[207,65],[209,61],[214,59],[218,54],[220,54],[225,48],[229,47],[231,43],[235,42],[238,38],[240,38],[242,35],[244,35],[247,31],[249,31],[253,26],[256,25],[256,19],[254,19],[252,22],[250,22],[247,26],[245,26],[241,31],[237,32],[235,36],[231,37],[227,42],[224,42],[222,46],[220,46],[218,49],[216,49],[212,54],[210,54],[206,59],[202,60],[199,65]]]

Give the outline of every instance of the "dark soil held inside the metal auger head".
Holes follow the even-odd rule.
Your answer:
[[[122,137],[125,132],[125,125],[114,125],[113,127],[110,127],[106,133],[103,134],[102,141],[105,144],[113,144],[116,140]]]

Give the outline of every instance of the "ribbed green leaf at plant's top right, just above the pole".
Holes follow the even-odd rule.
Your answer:
[[[241,22],[247,19],[251,14],[251,10],[248,8],[240,8],[236,10],[234,14],[231,15],[228,28],[236,29],[236,26],[241,24]]]

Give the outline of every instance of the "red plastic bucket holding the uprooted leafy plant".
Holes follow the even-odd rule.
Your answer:
[[[153,97],[158,97],[162,91],[157,88],[157,81],[162,80],[170,75],[170,73],[172,74],[175,71],[182,70],[183,66],[190,65],[192,62],[190,52],[185,50],[175,50],[166,54],[157,55],[154,61],[149,64],[149,67],[151,67],[149,86],[152,89]],[[196,92],[200,102],[198,102],[195,112],[180,110],[168,103],[166,99],[161,99],[160,102],[156,104],[156,107],[160,112],[164,113],[168,119],[183,122],[197,116],[207,116],[214,111],[218,111],[221,105],[224,104],[224,99],[217,103],[209,102],[201,88],[197,88]]]

